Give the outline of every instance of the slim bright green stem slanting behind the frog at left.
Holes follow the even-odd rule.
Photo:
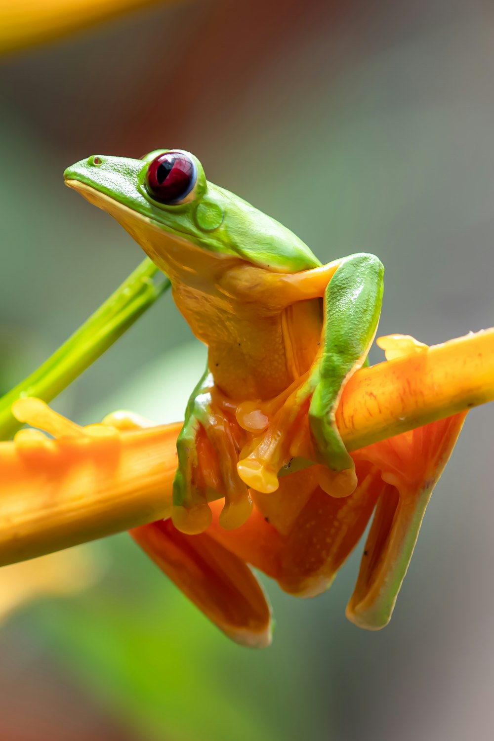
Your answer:
[[[15,433],[21,423],[10,408],[21,396],[38,396],[48,402],[63,391],[88,366],[101,356],[133,322],[150,308],[170,281],[153,282],[158,268],[150,259],[141,265],[117,288],[64,345],[0,399],[0,439]]]

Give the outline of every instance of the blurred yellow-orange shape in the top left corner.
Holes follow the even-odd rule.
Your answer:
[[[1,0],[0,53],[51,41],[153,4],[158,0]]]

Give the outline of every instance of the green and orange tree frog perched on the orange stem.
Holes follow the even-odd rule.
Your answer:
[[[163,202],[153,187],[166,186],[172,170],[159,170],[159,163],[170,168],[178,161],[192,173],[190,183],[183,197]],[[396,491],[407,498],[401,506],[399,494],[389,495],[394,514],[379,505],[370,535],[376,555],[367,571],[362,567],[349,614],[367,628],[385,625],[444,451],[461,423],[438,436],[442,447],[431,448],[423,467],[414,462],[416,431],[398,457],[393,445],[386,455],[370,446],[370,456],[350,456],[344,448],[335,411],[375,336],[381,262],[356,253],[321,265],[286,227],[208,182],[201,163],[184,150],[156,150],[142,159],[91,156],[64,176],[166,273],[178,309],[208,347],[178,436],[176,530],[184,536],[207,530],[287,591],[318,594],[360,539],[379,497],[393,489],[381,477],[385,459]],[[297,471],[304,459],[316,465]],[[177,544],[187,539],[170,527],[144,526],[136,539],[177,581]],[[183,548],[185,564],[190,554]]]

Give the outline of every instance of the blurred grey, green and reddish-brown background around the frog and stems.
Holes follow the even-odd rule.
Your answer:
[[[197,0],[4,55],[0,391],[141,260],[64,188],[91,153],[192,150],[322,260],[376,253],[382,334],[433,344],[493,325],[493,39],[490,0]],[[81,423],[121,407],[181,419],[203,357],[164,296],[54,406]],[[344,617],[359,553],[316,599],[265,579],[277,626],[253,652],[125,534],[71,552],[93,573],[64,575],[77,594],[0,602],[2,738],[492,737],[493,421],[467,419],[379,633]]]

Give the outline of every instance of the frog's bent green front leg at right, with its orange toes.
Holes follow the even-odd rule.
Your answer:
[[[306,282],[310,280],[307,271]],[[320,280],[321,269],[314,271]],[[256,491],[278,487],[277,474],[293,454],[307,410],[317,462],[324,464],[321,487],[333,496],[350,494],[356,486],[353,460],[338,432],[336,408],[350,376],[364,364],[381,311],[384,268],[374,255],[358,253],[342,259],[324,290],[324,325],[320,350],[307,374],[278,411],[267,431],[238,464],[241,479]],[[304,286],[304,297],[307,287]],[[290,452],[291,451],[291,452]]]

